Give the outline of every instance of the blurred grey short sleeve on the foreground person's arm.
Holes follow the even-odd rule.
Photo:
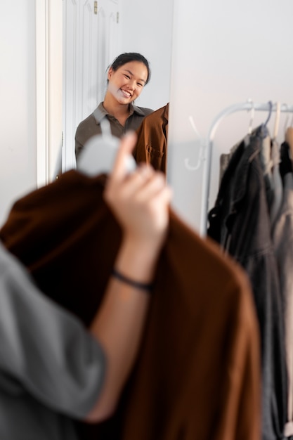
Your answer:
[[[0,245],[0,372],[53,410],[84,418],[98,400],[103,350],[45,297]]]

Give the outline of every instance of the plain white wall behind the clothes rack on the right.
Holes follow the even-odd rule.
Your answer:
[[[248,98],[293,105],[292,17],[292,0],[174,0],[168,179],[174,207],[190,226],[200,228],[203,163],[188,171],[184,160],[197,164],[216,115]],[[264,119],[258,115],[255,124]],[[247,112],[231,115],[216,133],[210,205],[218,189],[219,153],[228,152],[248,124]],[[284,118],[279,138],[283,125]]]

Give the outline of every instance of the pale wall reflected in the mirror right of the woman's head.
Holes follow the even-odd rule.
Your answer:
[[[120,11],[120,52],[141,53],[152,70],[136,105],[156,110],[170,98],[173,0],[120,0]]]

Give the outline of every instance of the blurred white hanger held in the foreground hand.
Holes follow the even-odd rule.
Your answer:
[[[98,176],[98,174],[109,174],[115,161],[119,138],[112,136],[110,122],[106,117],[100,122],[102,134],[92,136],[84,144],[84,150],[80,153],[77,161],[77,170],[87,176]],[[128,172],[134,171],[136,161],[129,155],[126,158]]]

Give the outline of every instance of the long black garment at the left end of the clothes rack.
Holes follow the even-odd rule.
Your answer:
[[[285,330],[271,221],[259,153],[261,129],[240,143],[223,175],[208,235],[241,264],[252,283],[261,330],[262,439],[283,438],[287,420]]]

